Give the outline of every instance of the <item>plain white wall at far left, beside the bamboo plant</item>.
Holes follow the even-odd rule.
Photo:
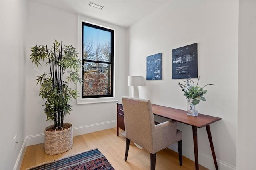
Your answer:
[[[24,27],[26,1],[0,0],[0,165],[11,170],[20,156],[24,133]],[[14,136],[18,143],[14,149]]]

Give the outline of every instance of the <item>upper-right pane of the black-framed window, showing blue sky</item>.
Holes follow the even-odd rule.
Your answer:
[[[109,31],[99,30],[98,37],[98,47],[99,47],[99,61],[110,62],[110,42],[111,42],[111,33]]]

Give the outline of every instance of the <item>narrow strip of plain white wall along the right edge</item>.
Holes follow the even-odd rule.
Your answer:
[[[256,1],[239,1],[237,169],[256,170]]]

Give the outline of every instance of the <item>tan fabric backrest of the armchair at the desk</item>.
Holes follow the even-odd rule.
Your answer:
[[[150,100],[122,97],[122,103],[126,138],[151,150],[155,124]]]

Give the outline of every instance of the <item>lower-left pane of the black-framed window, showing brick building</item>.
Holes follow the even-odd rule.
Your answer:
[[[98,95],[98,63],[84,62],[83,95]]]

